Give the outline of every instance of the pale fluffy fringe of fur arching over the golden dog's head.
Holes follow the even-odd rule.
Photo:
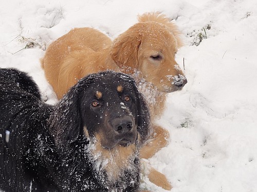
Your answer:
[[[159,24],[163,24],[166,26],[174,35],[177,41],[177,48],[183,46],[183,43],[180,39],[180,31],[178,30],[177,26],[171,23],[171,19],[168,18],[166,15],[161,14],[161,12],[153,12],[153,13],[144,13],[142,15],[138,15],[138,22],[145,23],[145,22],[156,22]]]

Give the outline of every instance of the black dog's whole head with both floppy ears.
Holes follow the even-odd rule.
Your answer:
[[[150,117],[132,77],[102,72],[82,78],[72,87],[56,105],[49,122],[58,146],[67,146],[82,135],[112,150],[135,144],[138,135],[143,142]]]

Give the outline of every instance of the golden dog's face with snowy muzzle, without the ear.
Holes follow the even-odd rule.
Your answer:
[[[187,79],[175,61],[177,42],[174,35],[157,23],[145,26],[138,49],[138,71],[142,78],[152,82],[161,92],[174,92],[181,89]]]

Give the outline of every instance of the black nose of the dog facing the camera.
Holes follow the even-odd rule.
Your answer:
[[[134,123],[130,116],[117,117],[112,120],[114,130],[120,134],[129,133],[133,129]]]

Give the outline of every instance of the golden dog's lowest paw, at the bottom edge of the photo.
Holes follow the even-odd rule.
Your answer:
[[[172,186],[170,182],[167,180],[166,176],[155,170],[153,167],[150,169],[150,173],[148,175],[149,181],[156,184],[157,186],[166,189],[171,190]]]

